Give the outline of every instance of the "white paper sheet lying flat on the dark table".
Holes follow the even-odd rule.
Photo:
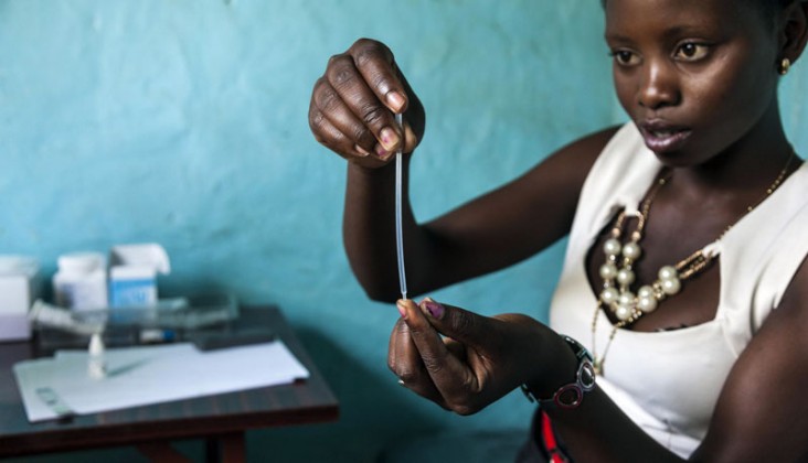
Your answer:
[[[87,374],[86,351],[14,365],[30,421],[59,418],[38,390],[50,388],[74,413],[97,413],[210,396],[308,378],[309,372],[280,341],[200,352],[193,344],[107,349],[107,377]]]

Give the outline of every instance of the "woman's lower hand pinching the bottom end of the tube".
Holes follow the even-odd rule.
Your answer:
[[[571,354],[527,315],[488,317],[429,298],[396,305],[402,317],[390,337],[387,366],[403,386],[459,414],[475,413],[523,383],[544,383],[542,364],[553,358],[546,351]]]

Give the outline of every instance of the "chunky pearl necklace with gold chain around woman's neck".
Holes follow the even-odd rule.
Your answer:
[[[790,166],[795,155],[796,153],[791,151],[788,160],[786,161],[786,165],[783,168],[772,185],[766,189],[766,194],[764,194],[758,202],[746,207],[746,212],[734,223],[727,226],[719,238],[713,241],[713,245],[721,241],[724,235],[726,235],[726,233],[737,224],[741,218],[746,216],[746,214],[752,212],[757,207],[757,205],[763,203],[764,200],[774,193],[775,190],[777,190],[786,177],[788,168]],[[598,270],[598,273],[603,279],[603,290],[598,295],[595,316],[592,320],[592,352],[593,357],[595,358],[594,367],[596,375],[603,374],[603,365],[606,360],[606,354],[612,346],[612,341],[615,338],[618,329],[629,326],[642,315],[653,312],[660,302],[677,294],[681,290],[682,281],[685,281],[706,269],[713,259],[717,257],[717,252],[705,252],[704,249],[706,249],[706,247],[699,249],[676,265],[662,266],[657,272],[657,279],[652,283],[639,287],[636,294],[631,291],[631,284],[636,280],[632,266],[634,262],[642,256],[642,248],[639,243],[642,240],[642,230],[646,222],[648,220],[648,213],[650,212],[651,203],[657,196],[659,190],[670,181],[670,177],[671,174],[663,175],[655,183],[648,192],[646,200],[642,201],[639,212],[621,212],[617,216],[615,225],[609,233],[610,237],[603,245],[603,252],[606,256],[606,262],[600,266]],[[637,217],[637,226],[631,233],[628,243],[621,244],[620,236],[623,235],[624,222],[629,216]],[[595,346],[597,315],[604,308],[607,308],[612,313],[614,313],[617,319],[617,323],[613,325],[603,356],[598,358]]]

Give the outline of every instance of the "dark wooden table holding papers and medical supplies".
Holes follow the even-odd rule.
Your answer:
[[[248,429],[337,420],[337,399],[277,308],[244,309],[237,323],[272,329],[311,376],[293,385],[30,423],[11,366],[34,357],[33,344],[0,344],[0,457],[136,445],[153,459],[181,460],[168,443],[202,438],[209,461],[238,462],[245,460]]]

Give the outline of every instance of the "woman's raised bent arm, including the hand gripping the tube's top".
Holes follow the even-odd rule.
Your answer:
[[[394,112],[404,112],[404,133]],[[410,293],[502,269],[563,237],[584,179],[615,128],[577,140],[519,179],[430,222],[410,207],[407,172],[423,138],[424,109],[383,44],[360,40],[332,57],[311,99],[318,141],[349,161],[343,239],[368,294],[398,298],[393,153],[404,142],[404,250]],[[394,133],[394,136],[393,136]],[[451,189],[447,180],[445,187]]]

